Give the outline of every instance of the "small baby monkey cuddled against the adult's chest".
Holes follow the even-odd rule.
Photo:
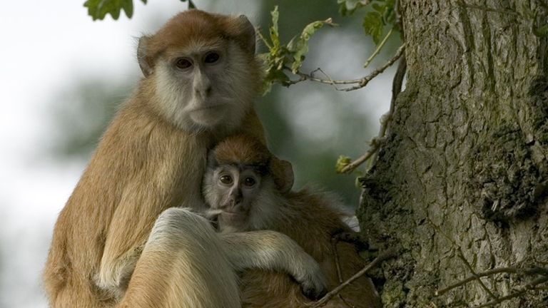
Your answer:
[[[351,232],[341,220],[335,198],[304,189],[293,192],[293,169],[250,135],[232,135],[208,157],[203,193],[208,216],[220,232],[275,230],[297,242],[328,277],[333,289],[364,265],[353,245],[339,242],[339,277],[333,235]],[[275,254],[276,251],[270,252]],[[283,272],[248,270],[240,280],[243,307],[305,307],[310,299],[299,284]],[[381,307],[371,279],[360,277],[342,289],[325,307]]]

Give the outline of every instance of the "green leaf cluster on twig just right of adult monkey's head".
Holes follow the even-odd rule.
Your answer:
[[[287,45],[284,45],[280,43],[280,34],[278,32],[278,6],[275,6],[270,14],[272,16],[272,26],[268,29],[269,39],[259,34],[260,39],[268,48],[268,53],[260,55],[260,58],[263,58],[266,63],[265,92],[270,91],[273,83],[289,86],[290,79],[284,73],[284,70],[290,69],[293,73],[297,73],[300,66],[303,65],[306,53],[308,53],[310,37],[325,25],[336,26],[331,19],[314,21],[305,26],[299,36],[294,36]]]

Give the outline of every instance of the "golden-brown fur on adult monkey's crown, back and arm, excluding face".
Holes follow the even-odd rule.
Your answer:
[[[191,41],[228,39],[244,46],[238,25],[228,16],[183,12],[152,37],[145,61],[153,67]],[[253,93],[251,97],[260,84],[260,72],[253,54],[246,54],[250,86],[244,91]],[[97,287],[98,275],[110,274],[100,273],[103,267],[137,262],[163,210],[201,205],[200,184],[208,148],[234,130],[248,131],[263,140],[263,128],[250,101],[241,107],[245,120],[240,125],[231,123],[235,125],[231,130],[182,130],[163,116],[154,78],[152,71],[113,119],[59,215],[44,270],[51,307],[114,307],[116,296]],[[160,281],[163,273],[176,272],[170,264],[148,272],[148,279]],[[125,297],[122,305],[150,307],[139,304],[137,297],[164,302],[168,295],[159,294],[155,287],[141,285],[140,292],[133,292],[136,298]]]

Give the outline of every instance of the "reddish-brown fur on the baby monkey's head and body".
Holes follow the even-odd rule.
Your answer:
[[[220,142],[214,148],[212,156],[220,165],[268,165],[273,158],[262,143],[243,134],[230,136]],[[271,180],[287,174],[276,168],[280,167],[270,165],[274,178]],[[208,174],[211,175],[209,171]],[[268,175],[263,180],[267,181]],[[210,185],[207,179],[205,183]],[[268,188],[264,188],[266,189]],[[275,200],[268,200],[273,199],[273,195],[260,192],[261,195],[257,197],[253,207],[263,207],[263,210],[255,209],[254,212],[259,213],[255,217],[250,214],[248,219],[252,221],[251,227],[245,230],[268,229],[288,235],[320,263],[328,277],[328,289],[338,286],[340,282],[331,238],[338,232],[350,232],[350,228],[341,221],[342,213],[335,209],[334,203],[337,201],[329,195],[308,189],[274,193]],[[212,195],[211,189],[206,187],[206,200],[213,202],[213,198],[210,198]],[[264,217],[266,212],[268,217]],[[256,217],[257,215],[263,217]],[[343,281],[364,267],[364,262],[353,245],[340,242],[336,249]],[[303,296],[298,284],[281,272],[248,270],[241,277],[240,285],[243,307],[306,307],[310,304],[310,299]],[[380,298],[368,277],[360,277],[343,289],[340,295],[350,306],[335,297],[325,307],[381,307]]]

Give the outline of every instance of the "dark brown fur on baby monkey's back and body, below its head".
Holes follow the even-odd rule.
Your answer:
[[[301,190],[284,196],[288,202],[278,208],[278,217],[267,223],[268,230],[282,232],[297,242],[320,263],[328,277],[328,289],[340,282],[335,267],[335,255],[330,243],[338,232],[349,232],[340,220],[340,213],[332,208],[330,199],[320,193]],[[348,279],[365,266],[355,247],[340,242],[337,245],[342,279]],[[264,270],[248,270],[241,277],[243,307],[305,307],[310,304],[287,274]],[[360,277],[340,295],[350,307],[377,308],[380,299],[368,277]],[[334,297],[325,307],[349,307]]]

